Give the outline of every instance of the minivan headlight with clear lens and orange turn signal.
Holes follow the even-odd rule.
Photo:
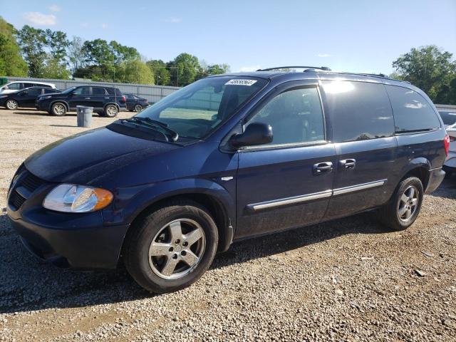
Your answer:
[[[113,201],[113,194],[99,187],[62,184],[53,188],[43,207],[56,212],[95,212]]]

